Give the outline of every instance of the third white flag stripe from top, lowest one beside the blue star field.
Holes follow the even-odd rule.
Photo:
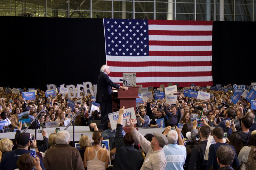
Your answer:
[[[150,45],[149,51],[211,51],[212,46],[167,46]]]

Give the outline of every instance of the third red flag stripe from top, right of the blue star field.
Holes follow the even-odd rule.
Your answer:
[[[212,45],[212,41],[149,41],[149,45],[206,46]]]

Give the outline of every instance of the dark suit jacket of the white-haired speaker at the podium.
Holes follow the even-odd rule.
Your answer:
[[[113,83],[107,74],[101,73],[97,80],[96,103],[112,103],[111,87],[118,89],[120,85]]]

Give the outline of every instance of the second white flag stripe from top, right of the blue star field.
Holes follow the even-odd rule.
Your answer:
[[[212,41],[211,35],[149,35],[149,41]]]

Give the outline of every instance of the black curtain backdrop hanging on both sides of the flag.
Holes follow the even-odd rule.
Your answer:
[[[105,64],[102,19],[0,16],[0,87],[97,84]],[[255,22],[213,22],[213,83],[250,85]],[[170,82],[171,83],[171,82]]]

